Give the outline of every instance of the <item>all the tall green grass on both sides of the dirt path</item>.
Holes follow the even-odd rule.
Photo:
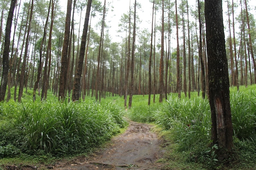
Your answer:
[[[47,162],[54,156],[85,154],[112,135],[124,131],[127,122],[154,123],[164,141],[164,169],[253,170],[256,169],[256,85],[230,88],[234,157],[231,165],[219,163],[211,146],[211,111],[208,100],[191,93],[191,99],[171,94],[166,102],[148,106],[148,95],[134,95],[132,108],[124,110],[124,98],[106,97],[101,103],[88,97],[85,102],[59,103],[49,92],[47,101],[24,95],[23,104],[0,104],[0,164],[5,162]],[[31,98],[31,99],[30,99]],[[11,122],[11,123],[10,123]],[[10,142],[11,141],[11,142]],[[90,151],[88,151],[90,152]],[[2,155],[1,155],[2,154]],[[20,157],[21,159],[18,160]],[[32,155],[32,156],[30,156]],[[34,157],[36,156],[36,157]],[[6,159],[6,157],[13,157]],[[56,157],[55,157],[56,158]]]

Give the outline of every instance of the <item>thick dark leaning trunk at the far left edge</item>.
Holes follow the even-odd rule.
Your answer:
[[[2,79],[0,85],[0,102],[4,101],[7,79],[9,72],[9,52],[10,52],[10,38],[11,38],[11,24],[13,20],[13,12],[17,0],[11,0],[10,10],[5,27],[5,38],[4,38],[4,51],[3,51],[3,67],[2,67]]]

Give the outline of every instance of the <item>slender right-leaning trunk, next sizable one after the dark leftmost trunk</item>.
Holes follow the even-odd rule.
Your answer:
[[[25,43],[24,59],[23,59],[22,67],[21,67],[21,71],[20,71],[20,87],[19,87],[18,102],[21,102],[21,97],[23,94],[24,79],[25,79],[25,67],[26,67],[26,63],[27,63],[27,54],[28,54],[28,48],[29,48],[29,35],[30,35],[30,29],[31,29],[33,7],[34,7],[34,0],[31,0],[29,25],[28,25],[28,29],[27,29],[27,38],[26,38],[26,43]]]

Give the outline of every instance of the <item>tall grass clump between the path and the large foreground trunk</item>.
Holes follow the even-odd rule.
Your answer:
[[[173,132],[179,150],[185,151],[210,143],[211,112],[207,100],[170,97],[156,113],[156,123]]]

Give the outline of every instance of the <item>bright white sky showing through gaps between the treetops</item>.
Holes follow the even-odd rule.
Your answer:
[[[102,5],[103,5],[104,0],[100,0],[100,1],[102,2]],[[111,27],[108,30],[109,30],[109,34],[112,38],[112,42],[121,42],[121,38],[118,36],[120,34],[117,33],[117,30],[119,29],[118,24],[120,23],[121,15],[123,15],[124,13],[128,14],[130,3],[131,3],[131,6],[133,6],[134,1],[135,0],[131,0],[131,2],[130,2],[130,0],[106,0],[107,8],[109,8],[108,13],[106,14],[106,24]],[[172,1],[174,1],[174,0],[171,0],[171,2]],[[225,24],[227,24],[227,22],[225,22],[225,20],[227,20],[227,15],[225,14],[227,3],[225,1],[226,0],[222,0],[224,26],[226,26]],[[237,0],[234,0],[234,2],[236,2],[236,1]],[[63,4],[63,9],[66,10],[67,0],[61,0],[61,2]],[[149,2],[149,0],[137,0],[137,3],[141,4],[141,8],[137,9],[137,16],[141,20],[141,24],[139,25],[139,28],[140,29],[148,28],[148,30],[151,30],[153,4],[151,2]],[[179,3],[179,1],[178,1],[178,3]],[[195,8],[196,8],[196,6],[195,6],[196,3],[197,3],[197,0],[189,0],[189,4],[193,8],[193,10],[195,10]],[[256,0],[248,0],[247,3],[251,8],[250,12],[253,13],[254,16],[256,17]],[[112,6],[113,8],[111,8],[110,6]],[[86,8],[84,9],[84,11],[85,10],[86,10]],[[134,9],[132,8],[131,10],[133,11]],[[158,13],[158,15],[161,15],[161,14]],[[160,20],[160,18],[158,18],[158,19]],[[190,19],[193,20],[192,17]],[[94,18],[94,20],[93,20],[94,22],[92,22],[92,25],[95,25],[96,22],[98,22],[99,20],[101,20],[101,18]],[[77,22],[78,21],[79,21],[79,17],[77,17]],[[84,22],[84,18],[82,19],[81,22],[82,23]],[[81,25],[81,27],[82,26],[83,26],[83,24]],[[173,35],[173,37],[175,37],[175,36]]]

